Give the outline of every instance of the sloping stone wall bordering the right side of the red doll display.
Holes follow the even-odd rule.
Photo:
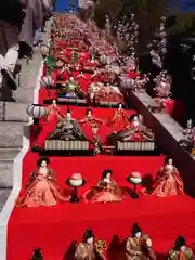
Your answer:
[[[178,167],[188,195],[195,196],[195,160],[179,146],[183,138],[183,128],[168,114],[154,114],[147,106],[152,98],[146,93],[130,93],[130,103],[141,113],[147,127],[155,132],[157,143],[167,156],[170,156]]]

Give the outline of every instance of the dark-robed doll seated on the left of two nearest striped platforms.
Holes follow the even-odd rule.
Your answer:
[[[78,121],[72,117],[72,112],[67,108],[66,117],[61,117],[56,128],[48,136],[48,140],[87,140]]]

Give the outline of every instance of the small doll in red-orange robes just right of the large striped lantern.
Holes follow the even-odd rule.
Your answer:
[[[60,121],[61,117],[64,117],[64,115],[61,113],[61,108],[57,106],[56,101],[53,100],[52,104],[47,107],[46,121]]]

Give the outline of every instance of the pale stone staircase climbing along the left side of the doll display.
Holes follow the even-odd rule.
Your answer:
[[[50,31],[48,22],[43,41],[48,43]],[[4,95],[15,99],[15,102],[3,102],[2,89],[0,91],[0,211],[5,204],[13,187],[14,159],[23,148],[23,135],[25,126],[29,121],[26,107],[34,102],[34,91],[37,87],[37,77],[41,66],[41,54],[39,49],[34,50],[30,61],[20,60],[22,72],[16,79],[18,89],[13,93],[6,90]],[[10,99],[9,99],[10,100]]]

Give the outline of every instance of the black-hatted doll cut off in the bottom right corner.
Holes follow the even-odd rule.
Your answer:
[[[193,250],[186,246],[185,238],[179,236],[176,246],[169,251],[167,260],[194,260]]]

